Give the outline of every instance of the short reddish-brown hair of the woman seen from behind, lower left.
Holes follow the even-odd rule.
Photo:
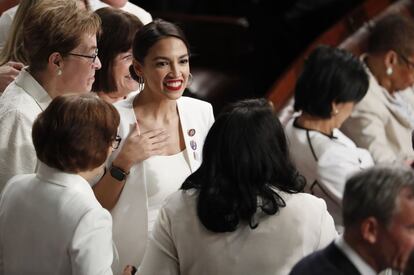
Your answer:
[[[64,172],[92,170],[105,162],[119,120],[117,110],[95,95],[58,96],[33,124],[36,155]]]

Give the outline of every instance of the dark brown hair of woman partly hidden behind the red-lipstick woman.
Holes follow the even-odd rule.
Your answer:
[[[102,67],[95,74],[92,91],[111,93],[117,87],[113,76],[115,57],[132,48],[135,33],[143,26],[142,22],[130,13],[114,8],[96,11],[102,21],[102,33],[98,38]]]

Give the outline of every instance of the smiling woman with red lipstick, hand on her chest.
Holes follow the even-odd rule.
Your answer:
[[[120,148],[94,191],[114,218],[120,266],[139,264],[164,199],[201,163],[214,122],[210,104],[182,97],[190,76],[189,47],[172,23],[155,20],[133,43],[131,75],[144,89],[115,106]]]

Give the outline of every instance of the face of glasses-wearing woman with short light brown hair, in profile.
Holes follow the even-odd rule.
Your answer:
[[[73,54],[92,56],[96,51],[96,36],[83,34],[80,44],[71,51]],[[59,76],[60,90],[63,93],[90,92],[95,81],[95,71],[101,68],[99,57],[92,58],[67,55],[59,64],[62,75]]]

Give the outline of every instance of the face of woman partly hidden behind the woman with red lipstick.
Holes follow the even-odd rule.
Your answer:
[[[138,90],[138,82],[132,79],[129,73],[132,59],[132,50],[115,56],[112,70],[117,92],[113,93],[114,96],[122,97]]]

